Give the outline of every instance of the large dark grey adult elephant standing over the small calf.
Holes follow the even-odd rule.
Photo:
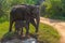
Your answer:
[[[35,22],[36,19],[36,22]],[[29,23],[31,23],[35,28],[36,32],[38,32],[39,28],[39,6],[38,5],[15,5],[13,6],[12,11],[10,12],[10,29],[12,31],[12,25],[15,20],[26,20],[26,33],[29,31]]]

